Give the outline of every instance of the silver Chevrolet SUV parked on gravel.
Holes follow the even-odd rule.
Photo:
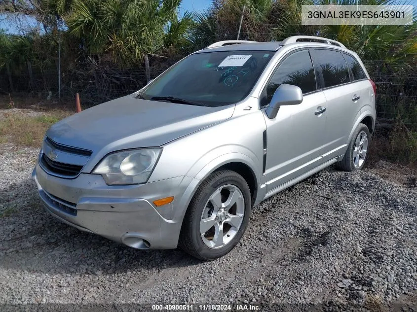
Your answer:
[[[46,210],[82,231],[215,259],[261,201],[332,164],[364,166],[375,93],[334,40],[217,42],[53,125],[32,178]]]

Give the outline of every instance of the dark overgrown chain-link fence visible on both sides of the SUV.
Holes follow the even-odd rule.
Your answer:
[[[180,60],[183,56],[150,56],[150,77]],[[417,72],[401,68],[400,65],[383,68],[382,61],[367,61],[365,66],[377,85],[377,127],[388,128],[398,118],[402,124],[416,128],[417,120]],[[381,70],[383,69],[383,70]],[[22,70],[10,76],[0,70],[0,91],[3,93],[30,93],[39,101],[58,102],[58,69],[34,70],[31,74]],[[145,66],[117,69],[110,65],[97,65],[92,59],[83,68],[66,69],[61,72],[61,101],[74,101],[79,93],[84,107],[133,93],[146,85]]]

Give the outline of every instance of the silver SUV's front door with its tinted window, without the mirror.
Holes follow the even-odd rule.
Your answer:
[[[266,192],[321,164],[326,145],[326,98],[317,90],[309,51],[297,50],[281,61],[268,82],[261,103],[268,104],[280,84],[293,84],[303,91],[303,102],[284,105],[274,119],[264,112],[266,164],[263,183]]]

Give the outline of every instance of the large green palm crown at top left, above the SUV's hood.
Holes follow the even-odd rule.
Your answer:
[[[73,0],[64,19],[92,55],[137,65],[146,53],[184,44],[191,15],[178,19],[181,0]]]

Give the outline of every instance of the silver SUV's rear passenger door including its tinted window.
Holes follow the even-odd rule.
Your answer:
[[[315,48],[313,58],[319,67],[323,93],[327,100],[325,161],[344,154],[349,134],[360,115],[361,88],[339,50]]]

